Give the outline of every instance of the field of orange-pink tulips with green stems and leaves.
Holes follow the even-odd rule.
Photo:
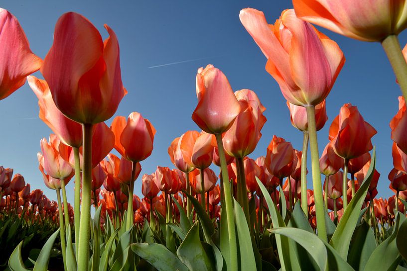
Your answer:
[[[19,18],[0,8],[0,100],[27,83],[52,130],[38,139],[36,156],[48,189],[1,161],[0,270],[407,271],[407,46],[398,38],[407,3],[292,5],[272,23],[268,10],[251,7],[236,21],[264,55],[302,149],[262,133],[269,101],[233,90],[228,71],[207,64],[187,79],[196,92],[182,92],[196,95],[196,130],[168,138],[172,166],[149,173],[141,167],[166,131],[143,112],[117,115],[133,91],[122,81],[120,29],[109,17],[102,28],[92,13],[58,14],[42,59]],[[326,98],[345,54],[324,28],[383,47],[401,90],[398,108],[380,108],[396,113],[386,123],[390,173],[377,170],[386,162],[372,144],[378,130],[357,105],[343,104],[328,120]],[[326,145],[318,142],[323,127]],[[253,157],[262,137],[265,155]]]

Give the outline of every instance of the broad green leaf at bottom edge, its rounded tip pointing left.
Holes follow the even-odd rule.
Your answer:
[[[135,243],[132,250],[158,271],[188,271],[188,268],[166,247],[156,243]]]

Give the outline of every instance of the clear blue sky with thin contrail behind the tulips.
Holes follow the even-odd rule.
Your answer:
[[[32,51],[41,58],[48,52],[55,22],[64,12],[81,13],[104,38],[107,33],[103,24],[112,27],[119,38],[123,83],[129,91],[116,115],[140,112],[157,130],[152,155],[141,162],[141,175],[152,173],[157,165],[173,167],[167,154],[171,141],[186,130],[199,129],[191,119],[197,103],[195,75],[199,67],[209,63],[226,74],[234,90],[254,90],[267,108],[263,137],[250,157],[265,155],[274,134],[301,149],[302,134],[290,124],[285,99],[265,71],[266,58],[239,20],[242,8],[254,7],[263,10],[269,23],[274,23],[283,9],[292,7],[291,1],[3,0],[1,7],[18,18]],[[357,105],[378,131],[373,144],[377,146],[377,170],[381,173],[379,195],[388,197],[392,192],[387,176],[393,168],[389,122],[398,110],[401,91],[379,43],[352,40],[325,29],[322,32],[339,44],[346,63],[327,98],[329,119],[318,133],[320,152],[339,108],[347,102]],[[404,47],[406,35],[400,39]],[[182,63],[152,68],[176,62]],[[40,73],[34,75],[42,78]],[[38,171],[39,142],[48,138],[51,130],[37,118],[37,102],[28,84],[0,101],[0,165],[13,168],[32,189],[41,188],[55,199],[54,191],[46,188]],[[310,179],[309,173],[308,183]],[[139,178],[135,186],[138,195],[140,187]],[[68,200],[73,202],[73,183],[67,189]]]

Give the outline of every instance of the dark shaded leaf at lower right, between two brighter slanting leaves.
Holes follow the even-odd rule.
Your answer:
[[[355,270],[363,270],[376,247],[375,234],[369,224],[363,221],[353,234],[347,262]]]

